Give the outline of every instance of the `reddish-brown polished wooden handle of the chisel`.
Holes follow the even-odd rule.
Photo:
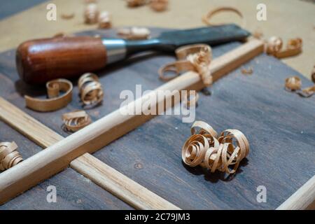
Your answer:
[[[55,78],[72,78],[106,65],[101,38],[90,36],[45,38],[22,43],[16,52],[20,78],[43,84]]]

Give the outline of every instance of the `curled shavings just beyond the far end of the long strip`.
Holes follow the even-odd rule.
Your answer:
[[[302,52],[302,39],[291,38],[283,49],[283,41],[278,36],[272,36],[265,44],[265,52],[277,58],[291,57]]]

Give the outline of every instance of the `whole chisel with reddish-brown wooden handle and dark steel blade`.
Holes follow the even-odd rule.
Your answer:
[[[230,24],[166,31],[158,38],[141,41],[92,36],[43,38],[22,43],[16,52],[16,65],[20,78],[26,83],[43,84],[55,78],[73,78],[102,69],[137,52],[174,52],[181,45],[217,45],[244,41],[249,35],[248,31]]]

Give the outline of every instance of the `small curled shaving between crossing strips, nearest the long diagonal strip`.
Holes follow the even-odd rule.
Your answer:
[[[62,121],[64,122],[64,130],[67,132],[76,132],[92,123],[90,116],[85,111],[64,113]]]

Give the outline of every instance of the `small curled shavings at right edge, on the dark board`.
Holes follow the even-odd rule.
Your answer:
[[[286,78],[284,87],[285,87],[285,90],[290,91],[290,92],[295,92],[299,94],[301,97],[311,97],[311,95],[315,93],[315,85],[301,90],[302,81],[297,76]]]

